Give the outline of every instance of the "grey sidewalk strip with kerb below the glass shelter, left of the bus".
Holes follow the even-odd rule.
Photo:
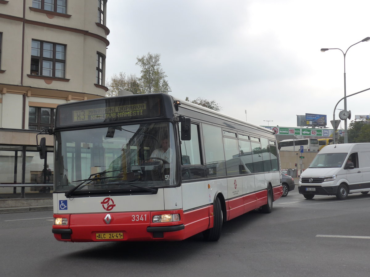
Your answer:
[[[7,198],[9,195],[0,195],[0,213],[52,211],[53,198],[51,198],[51,194],[48,196],[43,195],[43,197],[37,198]],[[17,197],[17,195],[14,195],[14,197]]]

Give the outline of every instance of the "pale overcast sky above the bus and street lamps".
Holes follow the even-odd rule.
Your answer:
[[[326,114],[331,127],[344,57],[320,49],[345,52],[370,37],[369,10],[364,0],[109,0],[106,79],[139,77],[136,58],[158,53],[176,98],[214,100],[222,113],[265,126]],[[349,49],[347,95],[370,88],[369,63],[370,41]],[[370,90],[348,98],[347,110],[369,114]]]

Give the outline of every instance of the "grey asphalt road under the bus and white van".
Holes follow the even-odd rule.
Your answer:
[[[227,222],[218,242],[63,243],[51,211],[0,214],[1,276],[370,276],[370,194],[295,191],[270,214]]]

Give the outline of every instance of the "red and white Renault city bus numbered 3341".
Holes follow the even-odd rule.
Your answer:
[[[218,240],[282,195],[272,131],[164,93],[62,104],[47,131],[63,242]]]

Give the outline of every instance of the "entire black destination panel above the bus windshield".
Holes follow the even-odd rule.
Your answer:
[[[165,116],[161,95],[134,95],[57,106],[55,126],[80,126]]]

